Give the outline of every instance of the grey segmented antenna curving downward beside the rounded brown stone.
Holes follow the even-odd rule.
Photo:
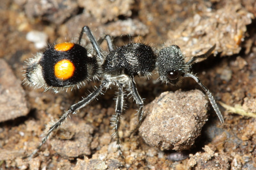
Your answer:
[[[184,74],[183,77],[194,78],[194,80],[196,80],[196,83],[204,89],[204,92],[207,94],[207,96],[208,96],[208,98],[209,98],[209,100],[212,104],[212,107],[213,107],[214,111],[218,115],[218,117],[220,119],[220,122],[223,124],[224,123],[223,117],[221,115],[221,112],[220,112],[220,109],[219,109],[218,105],[216,104],[216,101],[214,100],[214,98],[212,96],[212,92],[205,85],[203,85],[203,83],[199,80],[199,78],[197,78],[194,74],[186,73],[186,74]]]

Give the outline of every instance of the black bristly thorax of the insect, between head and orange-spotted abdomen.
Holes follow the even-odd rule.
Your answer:
[[[147,76],[155,69],[156,55],[151,47],[130,43],[110,51],[102,64],[103,73],[118,76]]]

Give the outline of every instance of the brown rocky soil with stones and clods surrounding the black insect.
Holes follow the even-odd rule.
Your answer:
[[[0,1],[0,15],[0,169],[256,169],[254,0],[11,0]],[[131,136],[137,105],[125,98],[124,159],[111,137],[115,87],[71,115],[34,158],[23,159],[46,124],[100,85],[54,93],[22,83],[28,58],[48,44],[77,40],[84,25],[97,39],[111,35],[116,47],[142,41],[157,53],[177,44],[187,60],[216,44],[192,71],[212,91],[224,124],[193,79],[165,85],[154,72],[150,80],[136,79],[145,117]],[[92,49],[86,36],[83,45]],[[107,54],[105,41],[101,47]]]

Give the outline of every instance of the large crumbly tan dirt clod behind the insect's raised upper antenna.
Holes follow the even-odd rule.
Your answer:
[[[197,55],[216,44],[216,51],[222,56],[233,55],[241,50],[246,25],[252,22],[252,14],[240,4],[225,4],[215,12],[205,11],[186,19],[176,30],[170,30],[170,42],[179,44],[187,56]]]

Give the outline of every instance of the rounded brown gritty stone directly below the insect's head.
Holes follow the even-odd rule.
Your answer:
[[[163,92],[145,107],[140,135],[161,150],[189,149],[207,120],[207,106],[199,90]]]

